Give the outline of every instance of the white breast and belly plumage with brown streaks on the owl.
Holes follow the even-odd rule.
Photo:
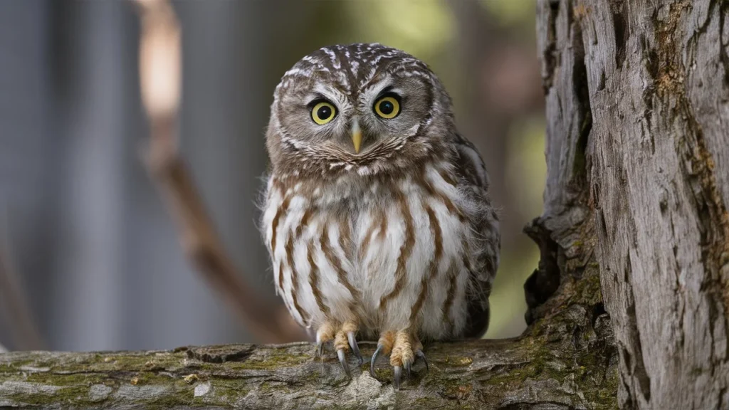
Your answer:
[[[307,327],[354,320],[365,337],[408,328],[457,336],[467,320],[475,207],[434,167],[366,187],[307,190],[271,179],[262,228],[277,292]]]

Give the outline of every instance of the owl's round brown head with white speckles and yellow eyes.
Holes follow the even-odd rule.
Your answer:
[[[278,174],[397,172],[445,155],[451,98],[417,58],[378,44],[306,55],[276,87],[266,135]]]

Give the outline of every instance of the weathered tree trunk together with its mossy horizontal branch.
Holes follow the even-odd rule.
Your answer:
[[[430,344],[399,392],[310,344],[6,353],[0,406],[728,406],[728,13],[539,0],[548,174],[520,338]]]

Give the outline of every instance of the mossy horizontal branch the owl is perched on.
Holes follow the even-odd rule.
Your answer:
[[[598,285],[599,286],[599,285]],[[119,409],[207,406],[245,409],[612,409],[617,371],[604,312],[582,306],[588,287],[566,288],[559,313],[519,339],[426,346],[396,392],[369,365],[348,381],[335,355],[314,359],[313,344],[179,348],[172,352],[0,355],[0,406]],[[569,306],[569,307],[567,307]],[[373,343],[362,353],[372,355]],[[385,360],[377,374],[392,379]]]

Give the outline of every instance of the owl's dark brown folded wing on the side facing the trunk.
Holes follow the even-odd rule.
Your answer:
[[[486,333],[489,320],[488,296],[499,266],[501,236],[499,217],[488,198],[488,172],[476,147],[463,136],[456,136],[456,150],[459,158],[456,167],[461,173],[461,184],[472,195],[477,204],[482,204],[473,228],[480,234],[480,249],[475,251],[475,260],[470,269],[466,337],[480,338]]]

